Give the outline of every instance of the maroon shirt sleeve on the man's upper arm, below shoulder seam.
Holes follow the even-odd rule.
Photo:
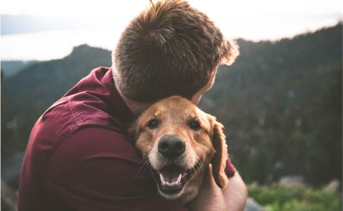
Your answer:
[[[48,162],[47,188],[61,207],[73,210],[186,210],[166,200],[130,143],[119,132],[97,126],[72,131]]]

